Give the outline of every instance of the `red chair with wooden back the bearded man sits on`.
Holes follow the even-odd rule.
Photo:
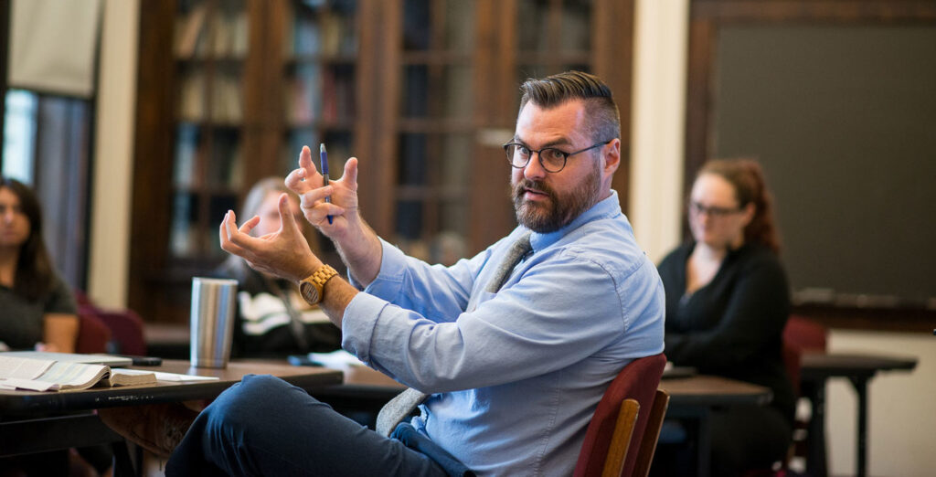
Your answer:
[[[635,359],[624,367],[607,387],[604,397],[598,402],[592,422],[585,432],[585,442],[578,454],[575,477],[636,475],[634,471],[637,455],[652,453],[656,447],[656,437],[659,436],[660,423],[665,414],[665,406],[668,402],[665,393],[663,397],[660,397],[659,404],[655,402],[657,386],[660,385],[665,364],[666,356],[662,353]],[[652,442],[644,444],[645,430],[648,428],[651,414],[654,413],[655,404],[659,422],[651,426]],[[662,405],[662,412],[660,412],[660,405]],[[621,430],[617,432],[618,438],[614,442],[615,429],[619,426]],[[644,448],[645,445],[650,448]],[[650,456],[652,458],[652,454]],[[651,458],[641,459],[646,460],[646,469],[642,471],[646,472],[650,469]],[[620,460],[620,464],[611,465],[610,469],[606,470],[608,459]]]

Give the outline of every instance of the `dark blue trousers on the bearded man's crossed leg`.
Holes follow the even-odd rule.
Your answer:
[[[334,412],[299,387],[247,375],[204,411],[166,475],[445,476],[426,455]]]

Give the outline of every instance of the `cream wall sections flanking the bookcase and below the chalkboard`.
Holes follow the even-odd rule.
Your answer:
[[[682,139],[688,0],[636,3],[634,149],[629,213],[637,239],[658,261],[680,240]],[[123,306],[132,173],[137,0],[107,0],[99,76],[90,293]],[[145,219],[145,218],[144,218]],[[870,474],[924,476],[936,469],[936,337],[833,331],[830,349],[913,354],[912,373],[870,384]],[[855,470],[855,397],[845,383],[828,387],[826,434],[833,474]]]

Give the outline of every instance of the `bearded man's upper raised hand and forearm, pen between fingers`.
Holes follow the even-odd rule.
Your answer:
[[[312,160],[312,150],[303,146],[299,168],[286,176],[286,187],[300,196],[306,220],[335,242],[355,279],[365,285],[373,282],[380,271],[383,248],[358,210],[358,159],[352,157],[344,163],[341,179],[329,181],[324,187],[322,179]],[[330,202],[325,201],[327,196]]]

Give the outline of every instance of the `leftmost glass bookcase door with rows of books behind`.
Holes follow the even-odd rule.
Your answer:
[[[168,240],[173,259],[223,255],[217,245],[217,227],[224,212],[235,207],[242,182],[242,79],[248,22],[244,0],[189,0],[178,5]]]

